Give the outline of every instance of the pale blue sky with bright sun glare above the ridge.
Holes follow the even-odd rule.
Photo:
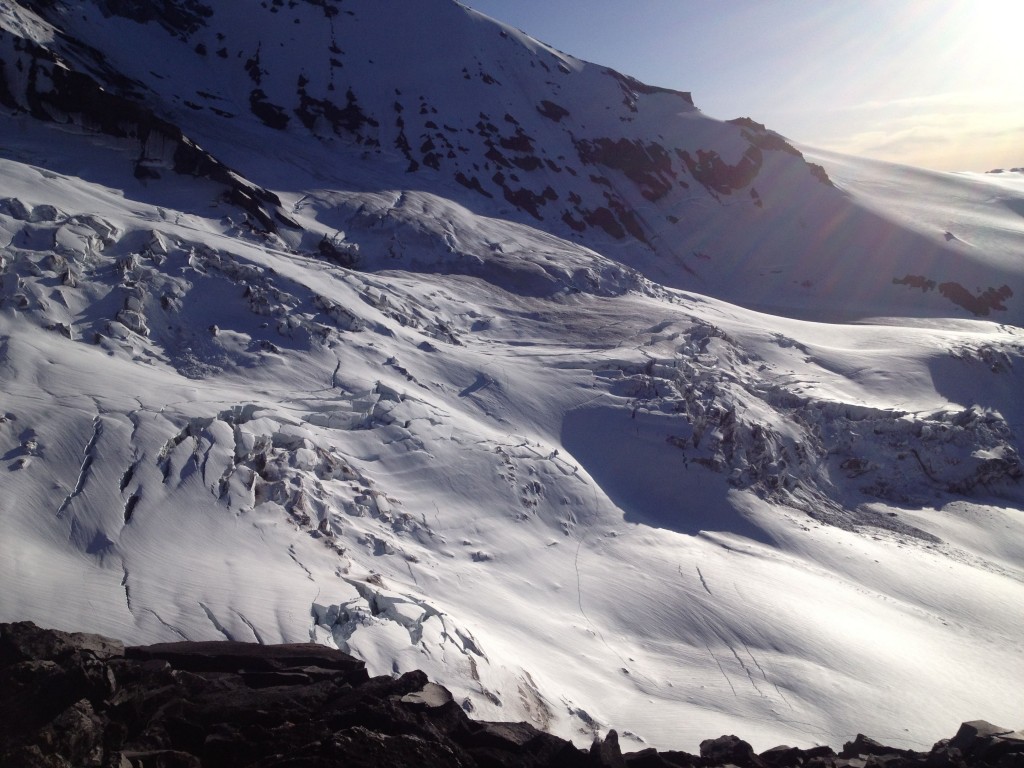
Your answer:
[[[1024,0],[463,0],[809,146],[1024,166]]]

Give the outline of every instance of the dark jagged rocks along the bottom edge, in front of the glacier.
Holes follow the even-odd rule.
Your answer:
[[[608,766],[961,768],[1024,766],[1024,732],[964,723],[930,752],[857,735],[756,755],[736,736],[699,755],[589,751],[526,723],[470,720],[422,672],[371,678],[362,662],[314,644],[117,640],[0,624],[0,765]]]

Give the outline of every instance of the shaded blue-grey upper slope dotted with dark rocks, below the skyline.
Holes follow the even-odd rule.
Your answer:
[[[76,42],[39,20],[8,23],[12,36],[53,39],[69,67],[195,126],[205,148],[256,184],[376,189],[385,174],[391,188],[441,191],[598,247],[664,285],[774,312],[1021,322],[1018,193],[989,207],[980,242],[952,231],[955,218],[925,225],[835,186],[753,120],[709,119],[689,94],[580,61],[457,3],[194,3],[162,15],[29,5]],[[31,53],[16,58],[7,101],[74,122],[68,104],[48,105],[46,78],[11,77],[33,71]],[[135,152],[136,173],[169,164],[166,142]],[[934,186],[943,184],[958,190],[943,200],[982,204],[991,188],[972,195],[955,177]],[[348,221],[325,218],[325,228]]]

